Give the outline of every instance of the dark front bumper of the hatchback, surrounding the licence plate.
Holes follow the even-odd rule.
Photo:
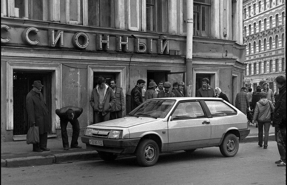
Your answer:
[[[89,140],[101,140],[104,146],[92,145]],[[102,137],[81,136],[81,140],[86,144],[87,149],[112,152],[112,153],[134,153],[141,138],[134,139],[107,139]]]

